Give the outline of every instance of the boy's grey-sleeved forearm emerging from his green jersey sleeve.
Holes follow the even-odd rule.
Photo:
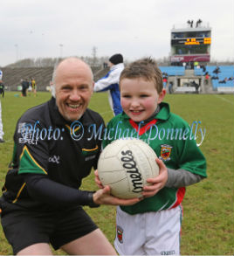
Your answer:
[[[168,188],[182,188],[194,183],[199,183],[204,176],[194,174],[188,170],[174,170],[168,168],[168,181],[165,184]]]

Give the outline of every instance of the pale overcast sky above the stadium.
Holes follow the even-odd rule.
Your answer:
[[[210,24],[211,59],[234,61],[233,0],[0,0],[0,66],[19,59],[168,57],[173,25]]]

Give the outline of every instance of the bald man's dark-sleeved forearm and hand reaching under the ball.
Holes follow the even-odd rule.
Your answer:
[[[99,204],[131,205],[140,201],[139,198],[121,199],[113,197],[110,194],[109,186],[92,192],[67,187],[43,175],[27,174],[24,175],[24,180],[31,197],[55,206],[88,205],[98,207]]]

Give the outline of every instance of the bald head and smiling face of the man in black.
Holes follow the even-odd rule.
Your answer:
[[[55,92],[58,111],[67,121],[79,120],[93,93],[93,75],[78,59],[65,60],[57,67]]]

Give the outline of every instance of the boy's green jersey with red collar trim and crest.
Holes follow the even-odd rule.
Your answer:
[[[187,170],[206,177],[206,161],[196,145],[192,128],[180,116],[170,113],[169,104],[162,102],[159,113],[147,123],[135,123],[125,113],[116,115],[107,125],[103,147],[127,137],[148,142],[169,169]],[[181,204],[184,194],[184,187],[164,187],[154,197],[131,206],[121,206],[121,209],[129,214],[162,211]]]

